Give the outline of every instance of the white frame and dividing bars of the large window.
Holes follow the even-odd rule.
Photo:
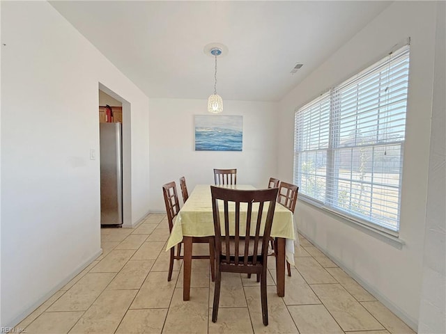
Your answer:
[[[410,39],[408,38],[408,40],[405,43],[400,43],[399,45],[396,45],[394,47],[394,49],[392,49],[392,51],[390,51],[389,53],[387,53],[387,56],[385,57],[380,57],[380,59],[378,61],[374,61],[374,63],[372,63],[371,65],[369,65],[368,67],[366,67],[364,70],[358,72],[357,74],[351,75],[348,79],[341,81],[340,84],[334,85],[332,86],[332,88],[325,90],[325,92],[321,93],[321,95],[319,95],[318,97],[316,97],[315,99],[312,99],[310,102],[298,107],[295,109],[295,127],[294,127],[294,157],[293,157],[293,182],[295,182],[295,184],[298,184],[299,186],[301,186],[301,182],[302,182],[302,177],[299,180],[298,175],[302,176],[302,166],[299,163],[299,159],[300,159],[300,155],[301,154],[306,154],[307,152],[309,152],[308,150],[302,150],[302,138],[303,136],[305,136],[305,134],[302,134],[302,132],[298,132],[298,126],[301,125],[300,120],[298,122],[298,115],[300,112],[303,112],[305,110],[302,111],[302,109],[308,109],[309,105],[314,105],[317,104],[318,102],[320,102],[321,100],[324,100],[324,98],[326,97],[326,95],[328,95],[329,100],[330,100],[330,135],[329,135],[329,141],[330,143],[328,143],[328,148],[317,148],[316,152],[319,151],[325,151],[326,152],[326,159],[327,159],[327,163],[326,163],[326,167],[325,167],[325,196],[323,196],[323,198],[313,198],[312,196],[307,196],[305,193],[303,193],[302,191],[299,192],[299,198],[301,200],[304,200],[305,202],[308,202],[311,205],[314,205],[320,209],[323,209],[327,212],[330,212],[330,214],[334,214],[334,216],[338,216],[341,217],[343,219],[345,219],[346,221],[349,221],[351,223],[354,224],[359,224],[362,227],[366,228],[367,230],[371,230],[373,232],[378,232],[378,234],[383,234],[387,237],[390,237],[391,239],[396,239],[399,240],[399,231],[401,230],[401,189],[402,189],[402,184],[403,184],[403,155],[404,155],[404,144],[405,144],[405,140],[406,140],[406,117],[407,117],[407,111],[408,111],[408,89],[409,89],[409,77],[410,77],[410,64],[408,65],[408,69],[407,69],[407,74],[406,78],[407,78],[407,84],[405,86],[405,97],[403,99],[403,104],[404,104],[404,111],[403,111],[403,138],[402,140],[399,141],[391,141],[389,138],[386,139],[386,141],[381,141],[379,144],[378,143],[373,143],[373,144],[369,144],[369,145],[364,145],[364,148],[370,148],[370,147],[374,147],[376,146],[392,146],[394,145],[396,148],[399,147],[399,184],[397,186],[398,189],[398,199],[397,199],[397,228],[393,229],[393,228],[387,228],[387,226],[390,226],[389,223],[386,223],[385,221],[382,221],[380,223],[374,223],[374,221],[372,220],[368,220],[368,219],[364,219],[361,216],[358,216],[358,214],[355,214],[354,212],[352,213],[352,210],[343,210],[338,206],[334,205],[334,201],[337,202],[339,200],[339,191],[337,188],[337,183],[339,183],[339,174],[337,177],[334,177],[333,175],[335,174],[335,169],[339,168],[336,167],[337,164],[339,164],[339,158],[336,161],[336,159],[334,158],[334,154],[342,149],[342,146],[339,145],[339,138],[340,135],[339,133],[336,135],[334,134],[334,132],[339,132],[339,127],[334,127],[333,126],[333,122],[334,119],[339,117],[339,111],[334,111],[334,109],[337,108],[335,100],[337,98],[337,94],[339,94],[339,91],[348,86],[351,85],[352,82],[355,82],[355,80],[357,80],[357,78],[362,77],[364,74],[367,74],[367,72],[373,72],[374,70],[380,68],[383,66],[383,63],[388,63],[390,62],[390,59],[388,61],[386,61],[386,58],[390,58],[390,55],[392,55],[393,53],[397,53],[397,56],[395,58],[397,58],[398,56],[400,56],[401,54],[404,56],[406,55],[407,57],[407,62],[410,63]],[[390,66],[389,66],[390,68]],[[379,79],[379,83],[381,83],[381,79]],[[375,105],[375,104],[374,104]],[[377,106],[379,106],[379,104],[377,104]],[[308,112],[308,110],[306,110]],[[380,113],[382,111],[380,111],[379,109],[377,110],[377,113],[374,114],[376,115],[376,117],[380,117]],[[355,108],[354,111],[354,115],[356,116],[358,114],[358,110]],[[321,120],[319,121],[321,122]],[[379,131],[377,131],[377,138],[379,136]],[[355,137],[357,138],[357,137]],[[356,140],[356,139],[355,139]],[[336,141],[338,141],[336,143]],[[300,148],[299,148],[300,145]],[[399,145],[399,146],[398,146]],[[360,145],[352,145],[351,146],[352,150],[354,148],[360,148]],[[300,149],[300,150],[298,150]],[[314,151],[314,150],[313,150]],[[374,152],[372,150],[372,152]],[[350,170],[351,173],[353,173],[354,171],[354,166],[353,166],[353,161],[351,162],[350,165]],[[374,175],[374,170],[372,170],[372,174]],[[334,180],[336,180],[336,182],[334,182]],[[353,180],[353,178],[351,177],[350,180]],[[371,182],[371,184],[373,184],[373,182]],[[389,184],[387,184],[386,186],[389,186]],[[373,190],[371,190],[370,192],[371,195],[374,194]],[[330,196],[333,199],[330,199]],[[374,209],[374,204],[372,203],[373,200],[371,198],[370,200],[371,204],[370,204],[370,210]],[[386,201],[384,201],[386,202]],[[398,241],[398,242],[402,242],[402,241]]]

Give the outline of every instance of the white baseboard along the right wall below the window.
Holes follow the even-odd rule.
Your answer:
[[[307,235],[305,233],[302,233],[301,231],[299,231],[299,233],[302,234],[302,236],[305,237],[305,239],[307,239],[312,244],[314,244],[314,246],[316,246],[319,250],[321,250],[321,252],[324,253],[324,255],[326,257],[328,257],[335,264],[337,264],[342,270],[344,270],[346,273],[348,273],[348,275],[351,278],[353,278],[357,283],[359,283],[364,289],[366,289],[367,292],[369,292],[372,296],[374,296],[378,301],[380,301],[380,303],[382,303],[386,308],[391,310],[394,313],[394,315],[397,315],[397,317],[399,317],[399,319],[404,321],[404,323],[407,326],[412,328],[413,331],[415,331],[415,333],[417,333],[417,331],[418,331],[418,323],[417,323],[417,321],[415,319],[410,317],[406,312],[404,312],[397,305],[392,303],[392,301],[387,299],[387,297],[384,296],[383,294],[381,294],[377,289],[375,289],[374,287],[371,287],[360,276],[358,276],[357,273],[355,273],[354,271],[351,271],[350,269],[348,269],[348,267],[346,267],[346,265],[341,260],[339,260],[337,257],[334,257],[334,256],[330,255],[327,252],[327,250],[323,249],[320,245],[318,245],[316,242],[314,242],[311,238],[307,237]]]

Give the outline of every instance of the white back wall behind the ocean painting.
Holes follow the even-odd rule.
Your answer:
[[[194,115],[206,100],[150,99],[151,210],[165,212],[162,184],[186,177],[187,189],[213,184],[213,168],[237,168],[238,184],[266,187],[277,173],[277,103],[224,101],[224,115],[243,116],[243,151],[194,150]],[[218,117],[218,116],[216,116]]]

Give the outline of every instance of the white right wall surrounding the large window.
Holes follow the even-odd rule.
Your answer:
[[[281,102],[284,131],[279,133],[279,159],[284,164],[279,165],[278,176],[283,178],[293,175],[295,108],[411,38],[400,231],[406,244],[401,250],[390,246],[302,201],[298,201],[296,216],[303,234],[415,329],[422,283],[436,6],[433,1],[395,1]]]

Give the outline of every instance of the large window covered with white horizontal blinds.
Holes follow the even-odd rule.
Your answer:
[[[397,235],[409,46],[295,112],[300,198]]]

